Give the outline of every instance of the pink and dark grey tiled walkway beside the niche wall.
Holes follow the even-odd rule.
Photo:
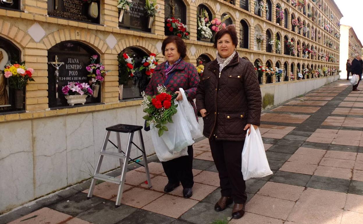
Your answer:
[[[363,223],[362,107],[363,93],[338,81],[264,111],[260,131],[274,174],[247,181],[246,214],[229,224]],[[100,183],[86,200],[86,181],[0,216],[0,223],[210,224],[230,217],[231,207],[213,210],[220,188],[206,139],[194,144],[194,154],[190,199],[181,186],[163,192],[167,178],[151,156],[153,187],[131,164],[119,208],[117,185]]]

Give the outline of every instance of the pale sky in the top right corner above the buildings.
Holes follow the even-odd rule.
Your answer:
[[[340,12],[343,14],[343,18],[340,20],[340,24],[353,27],[360,42],[363,44],[363,21],[362,21],[362,0],[334,0],[338,5]]]

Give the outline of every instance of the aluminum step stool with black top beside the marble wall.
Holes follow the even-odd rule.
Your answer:
[[[98,163],[97,163],[97,166],[96,166],[96,169],[95,169],[95,172],[94,172],[93,179],[91,181],[91,186],[90,186],[90,189],[89,189],[89,192],[88,192],[88,195],[87,195],[87,199],[92,197],[93,190],[94,190],[94,187],[96,185],[96,181],[97,180],[103,180],[103,181],[106,181],[106,182],[119,184],[115,207],[118,207],[118,206],[121,205],[122,191],[123,191],[123,185],[125,184],[127,164],[129,164],[129,159],[130,159],[131,144],[134,144],[134,146],[136,146],[136,148],[138,148],[142,152],[142,157],[144,159],[145,165],[140,164],[140,163],[138,163],[136,161],[136,159],[140,158],[141,156],[139,156],[137,158],[134,158],[134,159],[130,159],[130,160],[132,160],[135,163],[138,163],[141,166],[145,167],[148,187],[149,188],[151,187],[150,173],[149,173],[149,168],[147,166],[147,159],[146,159],[146,151],[145,151],[145,146],[144,146],[144,140],[142,138],[142,133],[141,133],[142,129],[143,129],[142,126],[124,125],[124,124],[118,124],[118,125],[114,125],[114,126],[111,126],[111,127],[106,127],[107,132],[106,132],[105,140],[103,140],[102,150],[99,153]],[[109,139],[111,131],[114,131],[116,133],[117,146],[113,142],[111,142],[111,140]],[[134,142],[132,142],[132,139],[134,138],[134,133],[136,131],[139,132],[141,148],[138,147]],[[127,143],[126,152],[123,152],[121,150],[120,132],[121,133],[130,133],[129,142]],[[110,142],[111,144],[113,144],[118,149],[118,152],[107,152],[106,151],[107,142]],[[122,168],[121,178],[120,179],[115,178],[113,176],[107,176],[107,175],[99,173],[99,169],[101,168],[101,163],[102,163],[103,156],[111,156],[111,157],[119,158],[120,168]]]

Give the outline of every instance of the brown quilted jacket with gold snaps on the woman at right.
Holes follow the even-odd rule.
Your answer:
[[[209,139],[241,141],[246,124],[260,126],[261,90],[251,62],[234,56],[219,72],[217,60],[205,65],[196,95],[198,114],[203,118],[203,135]]]

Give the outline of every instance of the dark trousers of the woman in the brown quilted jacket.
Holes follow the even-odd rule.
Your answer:
[[[244,204],[247,200],[246,182],[241,172],[244,141],[209,140],[221,185],[221,195],[233,198],[234,203]]]

